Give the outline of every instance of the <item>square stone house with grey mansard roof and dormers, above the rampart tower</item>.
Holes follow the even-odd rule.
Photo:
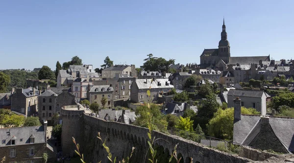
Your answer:
[[[100,107],[103,107],[101,103],[103,97],[107,98],[107,103],[104,107],[109,109],[113,107],[113,87],[110,87],[109,85],[88,85],[87,98],[91,104],[98,103]]]

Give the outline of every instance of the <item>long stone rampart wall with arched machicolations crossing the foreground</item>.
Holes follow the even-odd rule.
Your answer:
[[[64,129],[66,130],[65,133]],[[129,156],[133,146],[136,148],[132,156],[132,162],[144,163],[148,160],[143,157],[148,149],[147,128],[114,121],[104,121],[83,114],[82,119],[64,119],[62,132],[62,141],[64,141],[62,149],[63,151],[68,151],[68,154],[74,151],[72,136],[77,136],[76,134],[78,133],[81,134],[78,139],[75,139],[81,145],[86,162],[97,163],[101,160],[104,163],[107,161],[107,153],[102,147],[101,141],[97,138],[98,132],[100,132],[102,140],[106,139],[106,145],[118,160]],[[184,163],[190,163],[191,157],[193,158],[193,163],[246,163],[251,161],[173,135],[153,131],[152,137],[154,136],[156,139],[160,138],[155,141],[155,144],[162,148],[165,154],[172,153],[174,146],[178,144],[177,153],[183,156]]]

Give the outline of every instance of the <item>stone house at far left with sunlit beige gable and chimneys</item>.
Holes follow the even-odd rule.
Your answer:
[[[10,96],[11,110],[25,116],[33,116],[38,112],[38,94],[36,92],[39,93],[35,88],[17,88]]]

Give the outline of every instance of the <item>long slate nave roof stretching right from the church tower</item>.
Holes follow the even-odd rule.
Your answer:
[[[259,61],[270,61],[269,56],[252,56],[252,57],[230,57],[230,62],[227,63],[227,65],[230,64],[237,64],[240,65],[248,65],[248,64],[259,64]]]

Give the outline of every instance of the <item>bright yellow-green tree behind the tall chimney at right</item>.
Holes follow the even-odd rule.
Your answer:
[[[253,108],[241,108],[242,114],[247,115],[258,115],[260,112],[257,112]],[[208,135],[211,137],[219,139],[233,139],[233,127],[234,127],[234,108],[228,108],[225,110],[218,109],[214,114],[213,118],[209,120],[207,124]]]

